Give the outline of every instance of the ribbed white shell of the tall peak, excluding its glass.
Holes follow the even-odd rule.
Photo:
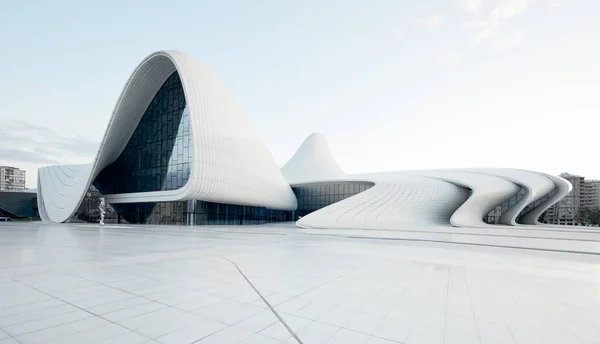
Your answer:
[[[192,174],[177,190],[106,195],[109,203],[203,200],[294,210],[296,198],[241,106],[203,63],[174,51],[148,56],[125,85],[94,162],[66,170],[40,169],[42,218],[64,222],[88,186],[121,154],[146,108],[173,73],[179,72],[190,111]]]

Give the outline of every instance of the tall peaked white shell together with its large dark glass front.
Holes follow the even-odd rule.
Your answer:
[[[134,70],[91,164],[45,167],[39,176],[40,214],[53,222],[70,219],[92,184],[111,204],[202,200],[296,208],[225,84],[200,61],[173,51],[151,54]],[[143,215],[144,207],[130,212]]]

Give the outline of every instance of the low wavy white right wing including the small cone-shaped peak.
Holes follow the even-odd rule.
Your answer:
[[[541,213],[571,190],[562,178],[517,169],[343,174],[325,139],[318,134],[305,140],[283,172],[292,186],[344,180],[374,183],[372,188],[325,206],[297,222],[299,226],[313,228],[485,227],[489,225],[484,219],[494,209],[502,211],[499,224],[514,226],[517,220],[536,224]]]

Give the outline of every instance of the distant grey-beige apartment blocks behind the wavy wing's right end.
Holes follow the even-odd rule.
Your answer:
[[[584,224],[585,209],[600,207],[600,180],[585,180],[585,177],[562,173],[562,178],[573,185],[573,190],[546,212],[545,222],[558,225]]]

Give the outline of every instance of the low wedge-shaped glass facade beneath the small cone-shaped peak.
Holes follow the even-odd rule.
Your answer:
[[[369,182],[331,182],[293,187],[292,190],[298,199],[296,218],[354,196],[373,185]]]

